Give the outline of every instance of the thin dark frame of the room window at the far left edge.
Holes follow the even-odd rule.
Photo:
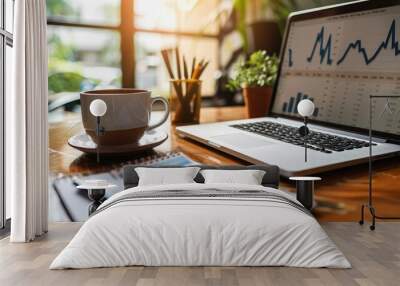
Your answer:
[[[15,0],[11,0],[13,5],[13,13]],[[5,101],[6,101],[6,48],[13,47],[13,34],[6,30],[6,0],[0,0],[1,5],[1,21],[0,21],[0,237],[9,233],[10,219],[6,217],[6,188],[5,188]],[[13,17],[13,15],[11,16]]]

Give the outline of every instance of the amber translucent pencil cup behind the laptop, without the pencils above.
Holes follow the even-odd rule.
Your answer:
[[[171,80],[170,108],[172,124],[198,124],[201,107],[201,80]]]

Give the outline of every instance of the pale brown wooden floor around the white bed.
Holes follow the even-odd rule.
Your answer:
[[[288,267],[124,267],[48,270],[79,229],[57,223],[29,244],[0,241],[0,285],[400,285],[400,222],[381,222],[371,232],[356,223],[323,223],[352,269]]]

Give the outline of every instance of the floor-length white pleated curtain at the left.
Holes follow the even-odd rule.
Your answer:
[[[15,1],[13,94],[6,98],[6,187],[12,242],[47,232],[46,1]]]

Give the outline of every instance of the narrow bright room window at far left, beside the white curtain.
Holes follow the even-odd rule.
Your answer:
[[[5,150],[4,133],[6,124],[4,122],[5,100],[11,93],[12,75],[12,45],[13,45],[13,18],[14,1],[0,0],[0,228],[6,225],[10,218],[10,194],[4,188]]]

